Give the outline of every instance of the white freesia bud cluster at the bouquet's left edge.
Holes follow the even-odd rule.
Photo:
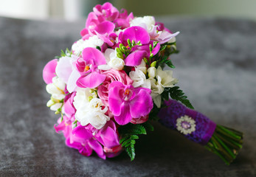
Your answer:
[[[53,77],[52,83],[49,83],[46,86],[46,91],[49,94],[52,94],[51,100],[49,100],[46,105],[50,107],[52,111],[57,111],[58,108],[63,105],[63,103],[60,103],[61,100],[65,98],[65,88],[66,84],[63,82],[63,80],[60,79],[60,77]]]

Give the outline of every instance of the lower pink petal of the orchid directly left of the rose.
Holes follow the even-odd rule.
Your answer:
[[[77,86],[82,88],[95,88],[100,86],[101,83],[105,80],[105,75],[98,72],[91,72],[88,75],[82,76],[77,80]]]

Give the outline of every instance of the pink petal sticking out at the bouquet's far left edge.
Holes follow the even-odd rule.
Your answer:
[[[46,84],[52,83],[52,77],[55,77],[55,69],[57,66],[58,60],[50,60],[48,63],[46,63],[46,66],[44,66],[43,69],[43,79]]]

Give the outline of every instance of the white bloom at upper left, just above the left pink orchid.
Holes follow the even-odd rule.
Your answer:
[[[80,55],[83,52],[83,49],[86,47],[94,47],[102,46],[104,41],[97,37],[97,35],[91,36],[87,40],[80,39],[76,43],[72,45],[72,50],[75,52],[75,55]]]

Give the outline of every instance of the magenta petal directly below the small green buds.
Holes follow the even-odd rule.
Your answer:
[[[147,57],[148,52],[145,50],[136,50],[135,52],[132,52],[130,55],[128,55],[127,58],[125,58],[125,65],[126,66],[138,66],[140,63],[142,63],[142,59]]]

